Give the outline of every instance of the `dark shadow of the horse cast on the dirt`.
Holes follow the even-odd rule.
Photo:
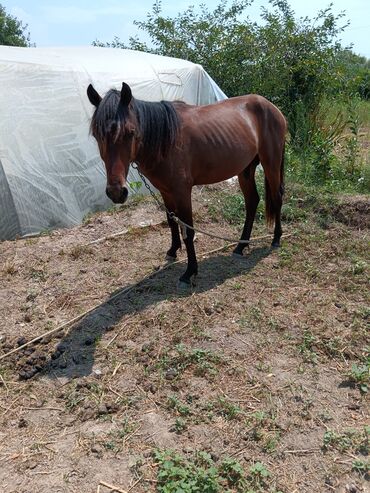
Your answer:
[[[260,260],[267,257],[270,248],[254,249],[243,259],[216,255],[199,261],[200,275],[197,278],[196,292],[208,291],[227,279],[253,270]],[[184,264],[175,264],[133,287],[130,293],[110,297],[94,311],[82,318],[63,336],[56,346],[50,360],[43,368],[43,374],[50,378],[82,377],[90,375],[94,365],[96,343],[102,335],[113,328],[123,318],[140,313],[149,306],[154,306],[167,299],[190,296],[191,292],[179,293],[177,279],[184,270]]]

